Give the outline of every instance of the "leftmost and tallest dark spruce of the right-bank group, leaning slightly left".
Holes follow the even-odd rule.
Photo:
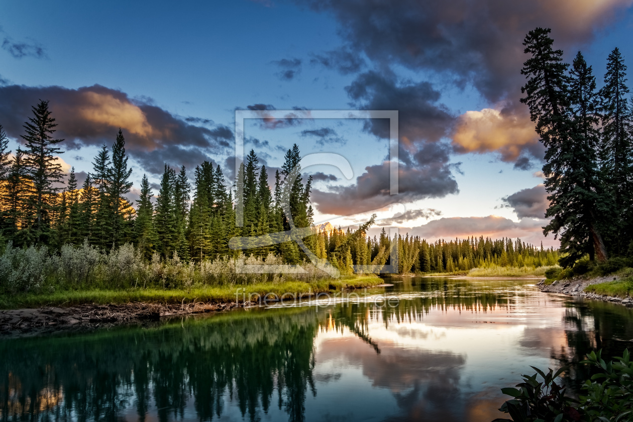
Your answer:
[[[529,78],[521,88],[521,102],[530,108],[536,132],[546,147],[543,172],[550,201],[546,218],[552,218],[543,233],[560,237],[561,249],[568,255],[562,264],[570,265],[584,254],[605,261],[607,251],[598,225],[595,163],[589,142],[577,127],[571,112],[568,68],[561,50],[553,49],[549,28],[530,31],[523,45],[531,57],[523,63],[522,75]]]

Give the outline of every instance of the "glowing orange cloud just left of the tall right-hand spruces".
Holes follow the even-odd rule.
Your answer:
[[[529,159],[520,158],[523,152],[540,154],[537,158],[542,159],[542,154],[537,152],[541,151],[541,144],[530,116],[491,108],[467,111],[459,116],[453,147],[461,153],[498,151],[503,161],[516,161],[515,166],[521,170],[529,168]]]

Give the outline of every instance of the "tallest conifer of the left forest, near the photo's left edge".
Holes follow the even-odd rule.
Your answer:
[[[60,192],[62,182],[61,164],[56,155],[61,154],[57,145],[63,139],[54,139],[55,119],[51,117],[48,101],[40,101],[33,106],[33,117],[24,124],[25,141],[24,164],[33,183],[32,206],[34,207],[34,237],[38,244],[47,243],[51,228],[51,213],[54,211],[54,197]]]

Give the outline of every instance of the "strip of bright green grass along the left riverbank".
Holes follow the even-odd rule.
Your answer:
[[[80,304],[125,304],[129,302],[159,302],[180,304],[182,302],[235,302],[242,301],[246,292],[265,295],[284,293],[308,295],[330,290],[362,289],[382,284],[375,275],[345,276],[318,282],[288,281],[282,283],[258,283],[252,285],[224,285],[194,287],[189,290],[128,289],[128,290],[67,290],[51,294],[0,295],[0,309],[19,309],[41,306],[75,306]],[[242,289],[242,290],[239,290]],[[253,299],[255,300],[255,299]]]

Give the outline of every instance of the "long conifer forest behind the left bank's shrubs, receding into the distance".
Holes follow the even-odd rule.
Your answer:
[[[99,151],[92,161],[93,171],[79,187],[74,168],[63,183],[64,175],[55,159],[62,152],[63,140],[53,136],[56,122],[48,102],[41,101],[32,111],[33,116],[24,125],[24,149],[18,147],[13,158],[7,151],[8,139],[0,129],[1,240],[3,244],[10,241],[13,248],[46,246],[55,252],[63,245],[85,247],[87,242],[104,252],[114,252],[122,245],[132,244],[139,258],[146,261],[177,256],[185,262],[199,263],[237,258],[243,253],[260,260],[272,254],[284,263],[299,264],[307,257],[289,238],[280,244],[246,251],[229,248],[232,237],[289,230],[282,207],[289,203],[296,227],[313,227],[304,239],[310,251],[319,259],[327,259],[344,275],[353,273],[354,264],[389,263],[396,245],[400,273],[453,272],[491,265],[542,266],[553,265],[558,259],[554,249],[534,247],[519,239],[480,237],[429,243],[408,235],[389,239],[384,229],[379,237],[372,238],[367,230],[373,225],[373,218],[356,230],[318,231],[313,226],[310,206],[312,178],[304,181],[301,177],[301,155],[296,144],[285,153],[282,171],[275,171],[273,187],[268,185],[266,167],[258,165],[251,150],[232,187],[227,187],[222,168],[214,168],[208,161],[194,169],[193,187],[184,166],[176,171],[165,164],[155,201],[144,175],[140,199],[134,208],[125,198],[132,188],[132,169],[121,130],[111,149],[103,146]],[[291,173],[296,178],[291,186],[285,186]],[[235,200],[239,190],[242,204]],[[235,225],[239,205],[243,209],[243,227]]]

